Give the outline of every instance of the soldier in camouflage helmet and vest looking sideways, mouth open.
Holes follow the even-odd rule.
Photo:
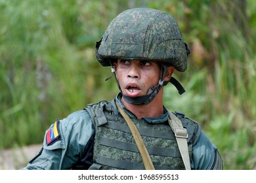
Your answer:
[[[163,106],[163,86],[185,71],[190,50],[175,20],[152,8],[121,12],[96,42],[120,90],[56,120],[24,169],[223,169],[200,125]]]

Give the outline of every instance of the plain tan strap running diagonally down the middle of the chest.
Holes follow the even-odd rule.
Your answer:
[[[135,124],[133,124],[133,121],[131,120],[131,118],[129,118],[129,116],[125,113],[125,111],[121,107],[119,107],[119,105],[117,103],[116,103],[116,106],[117,106],[118,110],[120,111],[121,115],[123,116],[123,118],[125,118],[125,121],[127,122],[129,128],[131,129],[131,133],[132,133],[133,138],[135,139],[135,142],[139,149],[145,169],[146,170],[154,170],[155,169],[154,165],[153,165],[152,160],[148,154],[148,150],[146,150],[146,146],[140,136],[140,133],[139,133],[137,127],[135,126]]]

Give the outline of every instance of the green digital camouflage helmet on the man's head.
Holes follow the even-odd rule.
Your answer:
[[[186,70],[190,54],[174,18],[152,8],[121,12],[108,25],[95,51],[102,66],[110,66],[110,60],[117,58],[154,60],[169,63],[181,72]]]

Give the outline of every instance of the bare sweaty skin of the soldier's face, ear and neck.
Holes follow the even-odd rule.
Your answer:
[[[139,60],[121,60],[118,59],[114,63],[116,69],[116,76],[123,92],[123,95],[128,97],[139,97],[146,95],[149,88],[158,85],[161,75],[161,67],[158,63],[153,61],[139,61]],[[168,67],[168,74],[164,81],[167,81],[173,75],[175,68]],[[163,89],[148,105],[133,105],[126,103],[121,99],[123,105],[133,112],[138,119],[144,117],[158,117],[163,114]]]

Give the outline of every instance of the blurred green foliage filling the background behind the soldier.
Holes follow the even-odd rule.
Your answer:
[[[119,12],[151,7],[178,22],[192,55],[165,105],[202,125],[224,169],[255,169],[255,1],[0,0],[0,149],[41,143],[55,118],[118,90],[95,42]]]

